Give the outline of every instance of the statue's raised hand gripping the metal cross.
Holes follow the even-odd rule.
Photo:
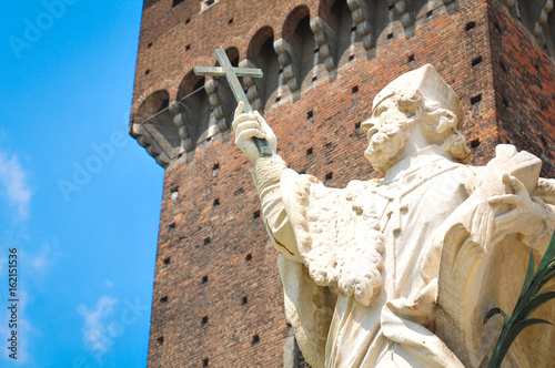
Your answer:
[[[264,117],[258,111],[252,113],[243,113],[243,111],[244,104],[239,102],[232,124],[233,132],[235,132],[235,145],[243,151],[252,163],[260,157],[259,150],[252,140],[253,136],[266,140],[270,149],[275,154],[278,139]]]

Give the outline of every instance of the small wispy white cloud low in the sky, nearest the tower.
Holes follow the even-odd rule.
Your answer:
[[[117,298],[102,296],[93,310],[89,310],[83,305],[78,307],[78,313],[84,320],[83,341],[92,350],[103,354],[110,348],[111,338],[108,324],[117,301]]]

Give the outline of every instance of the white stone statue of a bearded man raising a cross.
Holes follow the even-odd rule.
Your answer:
[[[484,316],[512,310],[529,249],[539,259],[555,228],[555,185],[538,177],[539,159],[500,145],[486,166],[465,165],[461,102],[430,64],[385,86],[361,125],[382,180],[329,188],[299,175],[275,154],[263,117],[242,112],[240,103],[235,144],[254,164],[285,314],[306,360],[478,367],[501,330]],[[261,157],[252,137],[274,155]],[[554,330],[528,328],[504,364],[547,367]]]

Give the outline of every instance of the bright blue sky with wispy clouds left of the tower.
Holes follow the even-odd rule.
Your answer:
[[[163,170],[128,134],[141,8],[29,0],[2,11],[1,367],[145,366]]]

